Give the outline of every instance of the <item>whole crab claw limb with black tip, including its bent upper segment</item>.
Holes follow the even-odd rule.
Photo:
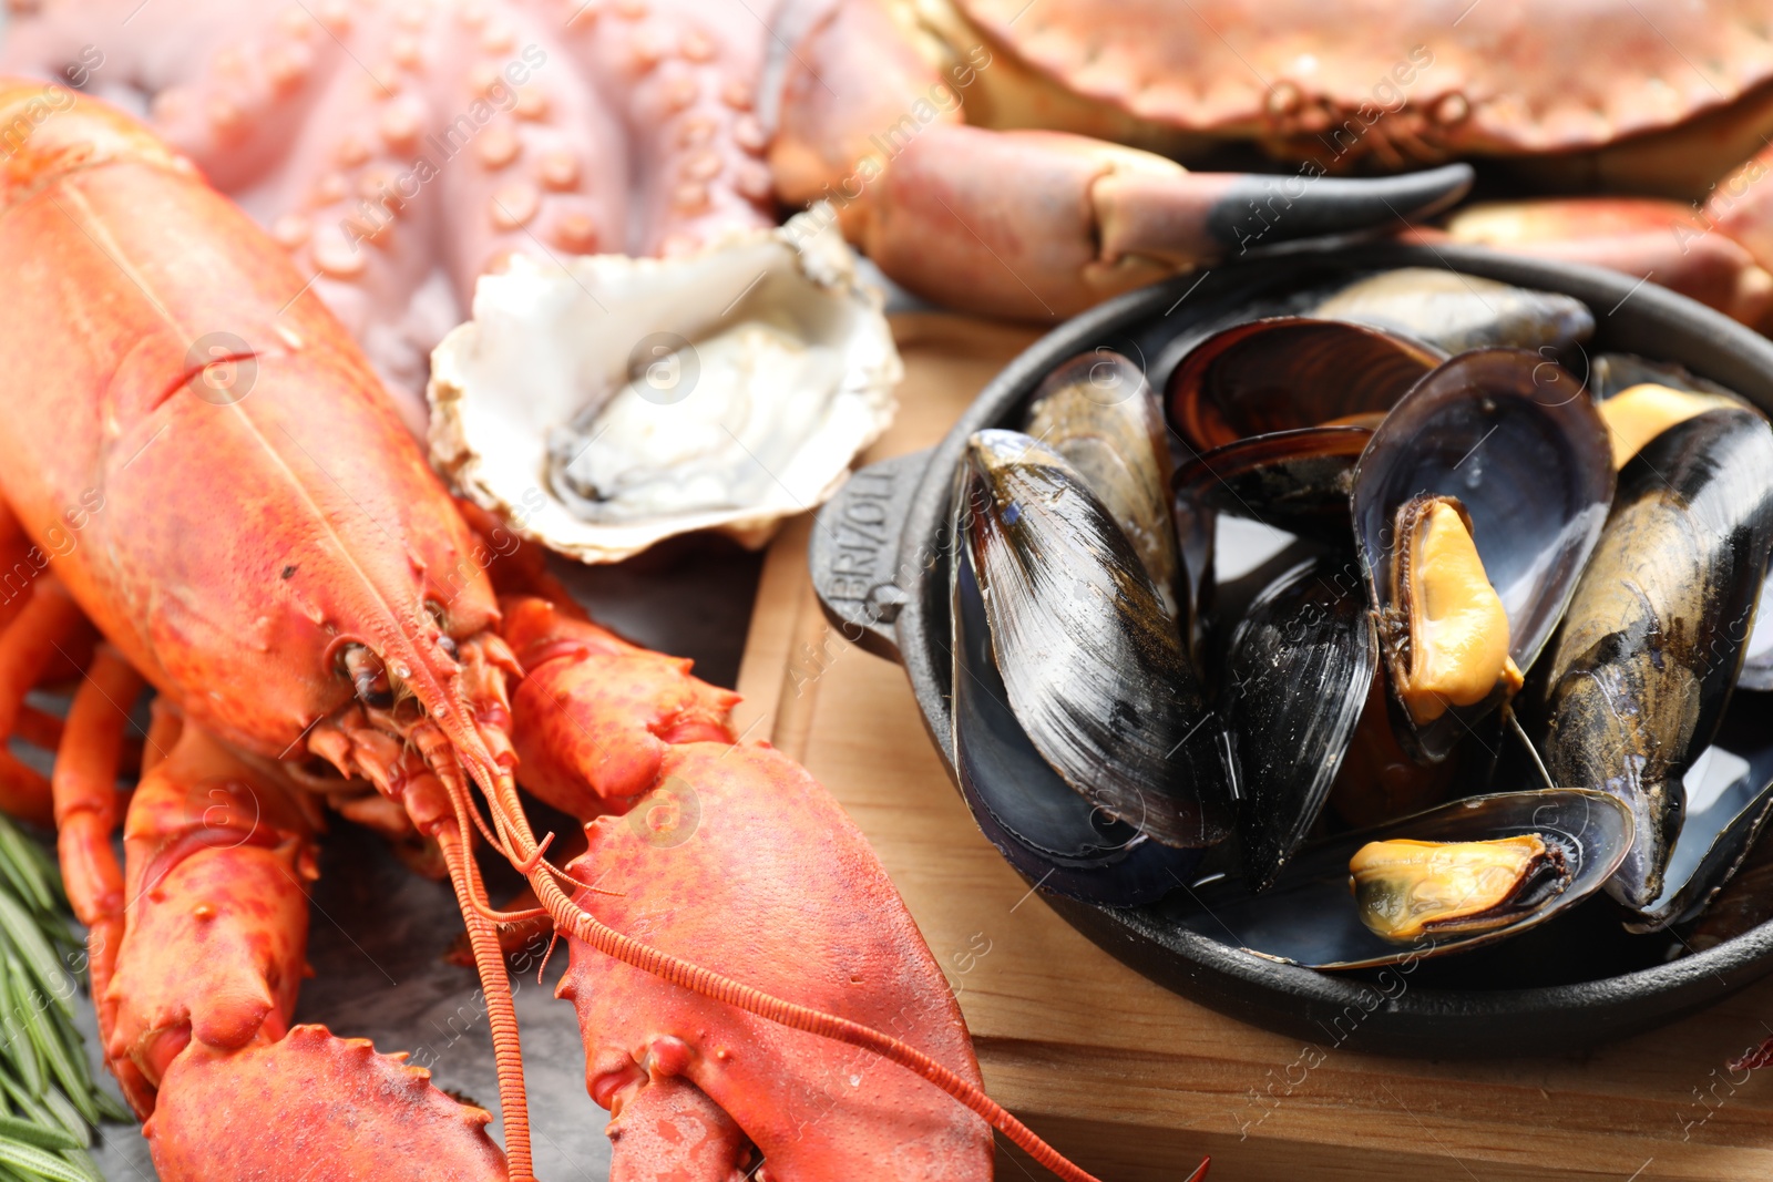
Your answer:
[[[842,96],[821,78],[842,78]],[[1255,246],[1401,229],[1472,184],[1466,165],[1371,181],[1310,165],[1188,172],[1082,135],[968,126],[959,103],[941,113],[926,94],[956,90],[879,5],[837,5],[787,62],[777,190],[830,200],[849,241],[904,287],[996,315],[1071,315]]]

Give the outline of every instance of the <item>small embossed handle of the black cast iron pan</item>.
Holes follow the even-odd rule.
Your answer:
[[[888,661],[901,659],[894,624],[906,585],[918,574],[901,569],[899,535],[931,450],[883,459],[849,477],[819,510],[807,544],[824,618],[853,645]]]

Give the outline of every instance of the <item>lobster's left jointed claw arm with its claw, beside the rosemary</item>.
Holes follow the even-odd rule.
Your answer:
[[[92,684],[113,675],[108,661],[101,650]],[[87,797],[96,778],[82,778]],[[152,1113],[144,1132],[160,1177],[504,1180],[484,1111],[363,1040],[289,1028],[316,874],[309,806],[184,725],[129,805],[122,890],[113,858],[92,875],[99,890],[76,893],[69,875],[76,906],[124,927],[101,1037],[131,1102]],[[83,829],[87,856],[101,865],[110,847],[90,842],[96,829]]]

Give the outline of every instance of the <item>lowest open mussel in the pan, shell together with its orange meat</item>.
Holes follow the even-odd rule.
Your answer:
[[[1213,939],[1232,932],[1271,960],[1376,968],[1544,923],[1599,891],[1629,844],[1631,813],[1605,792],[1500,792],[1314,842],[1261,895],[1234,879],[1197,883],[1188,898],[1172,897],[1165,914]],[[1406,849],[1417,856],[1395,856]],[[1434,849],[1450,852],[1436,858]],[[1404,918],[1418,902],[1427,906]],[[1436,914],[1447,921],[1420,921]]]

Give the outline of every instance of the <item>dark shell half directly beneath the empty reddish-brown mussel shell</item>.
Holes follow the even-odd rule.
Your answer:
[[[1355,461],[1371,438],[1372,427],[1339,425],[1238,439],[1177,468],[1175,493],[1213,512],[1346,544]]]

